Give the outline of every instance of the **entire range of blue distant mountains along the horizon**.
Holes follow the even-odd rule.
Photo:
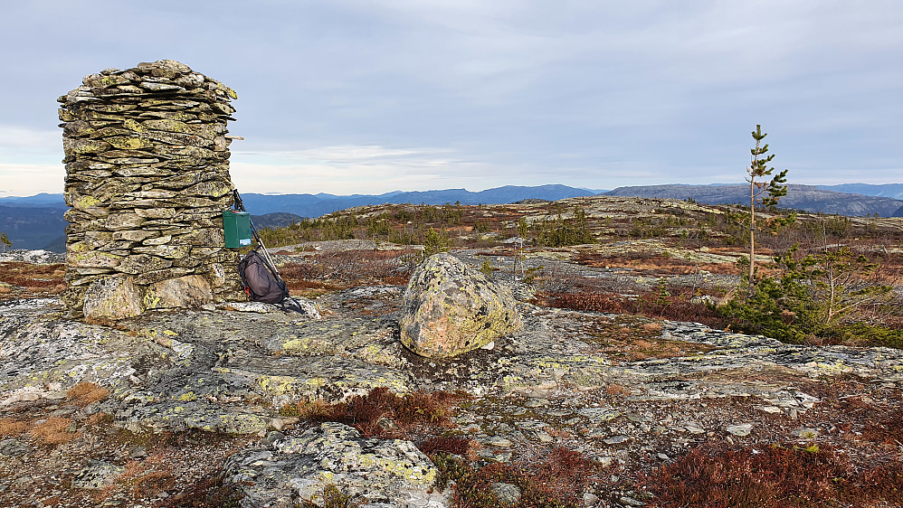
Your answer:
[[[859,190],[861,193],[841,193],[840,189]],[[466,189],[439,191],[383,193],[376,195],[353,194],[242,194],[248,212],[260,227],[279,227],[302,217],[319,217],[331,212],[367,204],[406,203],[445,204],[501,204],[528,199],[557,201],[565,198],[589,196],[598,193],[567,185],[539,185],[534,187],[506,185],[473,193]],[[646,185],[619,187],[602,195],[670,198],[710,204],[744,203],[749,200],[749,187],[743,184],[713,185]],[[867,194],[875,193],[875,195]],[[785,208],[807,212],[840,213],[864,216],[877,213],[882,217],[903,217],[903,201],[881,194],[903,194],[903,183],[871,185],[844,183],[842,185],[790,185],[789,193],[781,200]],[[67,209],[62,194],[41,193],[28,197],[0,198],[0,231],[5,231],[15,249],[65,249],[62,218]]]

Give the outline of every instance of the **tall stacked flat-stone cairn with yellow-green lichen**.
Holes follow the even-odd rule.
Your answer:
[[[59,99],[71,315],[243,299],[222,219],[234,90],[171,60],[82,82]]]

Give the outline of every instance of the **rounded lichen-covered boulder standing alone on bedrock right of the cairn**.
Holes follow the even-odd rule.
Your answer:
[[[507,287],[441,252],[414,270],[399,326],[413,353],[449,358],[516,332],[521,321]]]

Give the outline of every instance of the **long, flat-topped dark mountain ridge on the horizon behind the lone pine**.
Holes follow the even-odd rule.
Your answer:
[[[749,185],[644,185],[618,187],[603,195],[679,200],[691,198],[706,204],[749,204]],[[781,198],[780,206],[805,212],[839,213],[854,217],[876,213],[881,217],[903,217],[903,201],[863,194],[838,193],[813,185],[788,185],[787,195]]]

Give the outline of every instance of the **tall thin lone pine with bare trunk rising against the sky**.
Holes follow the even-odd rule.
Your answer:
[[[752,297],[755,289],[756,277],[756,204],[775,207],[779,199],[787,195],[787,170],[785,169],[771,179],[763,181],[765,176],[770,176],[775,171],[774,167],[768,167],[768,163],[775,158],[775,154],[765,156],[768,152],[768,144],[762,145],[762,140],[768,136],[762,132],[762,126],[756,125],[752,133],[756,140],[756,147],[749,150],[753,160],[746,167],[746,182],[749,182],[749,281],[746,287],[746,297]],[[767,194],[767,195],[764,195]]]

